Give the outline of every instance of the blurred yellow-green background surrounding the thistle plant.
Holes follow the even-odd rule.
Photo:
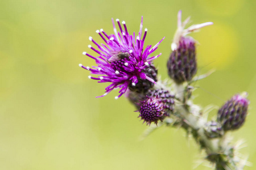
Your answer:
[[[118,91],[88,79],[78,65],[94,65],[88,40],[96,29],[112,33],[111,18],[138,32],[141,16],[146,44],[166,37],[155,54],[162,79],[176,29],[176,15],[214,25],[193,33],[198,74],[217,71],[197,82],[195,103],[222,105],[237,92],[249,92],[250,115],[233,133],[256,163],[256,1],[0,1],[0,169],[193,169],[202,160],[199,147],[182,129],[160,128],[144,141],[146,125]],[[216,110],[210,113],[214,116]],[[245,169],[256,169],[256,165]],[[203,163],[196,169],[210,169]]]

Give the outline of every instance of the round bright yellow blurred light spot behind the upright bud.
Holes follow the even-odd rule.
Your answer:
[[[214,69],[223,69],[238,54],[238,37],[229,25],[215,23],[193,37],[199,41],[197,56],[201,67],[210,65]]]

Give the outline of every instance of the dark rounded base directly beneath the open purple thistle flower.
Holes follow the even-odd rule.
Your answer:
[[[150,63],[143,70],[142,73],[146,74],[148,78],[151,78],[155,82],[157,82],[158,70],[156,70],[155,66]],[[138,82],[135,84],[130,82],[129,90],[138,92],[138,93],[146,93],[150,88],[154,87],[154,82],[148,81],[147,79],[138,78]]]

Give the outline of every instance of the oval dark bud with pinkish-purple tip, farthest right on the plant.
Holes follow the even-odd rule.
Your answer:
[[[217,122],[225,131],[239,129],[245,122],[248,105],[246,94],[234,95],[218,110]]]

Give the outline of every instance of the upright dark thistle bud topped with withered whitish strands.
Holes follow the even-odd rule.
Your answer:
[[[192,25],[185,29],[185,25],[189,22],[187,18],[181,22],[181,11],[177,15],[177,31],[174,41],[171,44],[172,53],[167,62],[168,74],[177,84],[190,81],[197,72],[196,62],[196,41],[187,36],[212,22]]]

